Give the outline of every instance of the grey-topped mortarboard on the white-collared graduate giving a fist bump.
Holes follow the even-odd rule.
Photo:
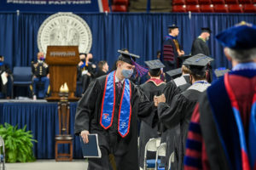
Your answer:
[[[196,54],[183,62],[189,70],[196,75],[204,76],[206,74],[207,65],[214,59],[204,54]]]

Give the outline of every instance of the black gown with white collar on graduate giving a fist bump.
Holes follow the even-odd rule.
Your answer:
[[[175,128],[174,151],[176,157],[174,169],[183,169],[183,156],[190,117],[192,116],[196,102],[208,86],[209,84],[195,83],[182,94],[174,96],[170,106],[166,103],[160,103],[158,106],[160,122],[167,128]]]

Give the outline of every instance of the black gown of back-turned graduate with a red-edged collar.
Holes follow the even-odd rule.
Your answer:
[[[157,84],[155,82],[145,82],[140,87],[143,90],[143,93],[148,97],[149,101],[154,101],[154,95],[159,96],[162,94],[163,89],[166,86],[166,82],[161,82]],[[153,112],[154,114],[154,112]],[[150,127],[146,122],[141,122],[140,128],[140,140],[139,140],[139,165],[143,167],[144,163],[144,151],[145,145],[147,144],[149,139],[158,138],[158,126]],[[155,153],[151,154],[148,152],[147,154],[148,159],[154,159]]]

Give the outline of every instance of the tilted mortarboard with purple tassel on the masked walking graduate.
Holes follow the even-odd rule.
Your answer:
[[[130,65],[135,65],[135,69],[139,77],[143,77],[143,75],[145,75],[148,72],[148,69],[144,68],[143,66],[135,62],[136,59],[140,58],[140,56],[122,50],[118,50],[118,52],[120,54],[118,60],[124,61],[125,63],[128,63]]]

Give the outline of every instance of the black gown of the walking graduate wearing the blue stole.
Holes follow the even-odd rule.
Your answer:
[[[118,94],[117,85],[115,85],[116,105],[113,113],[113,124],[107,130],[100,125],[105,82],[106,76],[96,78],[94,82],[90,83],[89,88],[79,100],[75,116],[74,132],[79,134],[83,130],[89,130],[90,133],[98,134],[102,158],[90,158],[88,169],[108,169],[108,155],[113,154],[118,169],[137,170],[139,167],[137,152],[137,117],[139,116],[144,122],[152,124],[154,118],[157,118],[157,114],[152,114],[152,111],[156,111],[154,102],[149,102],[143,92],[131,82],[130,131],[125,138],[122,138],[118,133],[120,95]]]

